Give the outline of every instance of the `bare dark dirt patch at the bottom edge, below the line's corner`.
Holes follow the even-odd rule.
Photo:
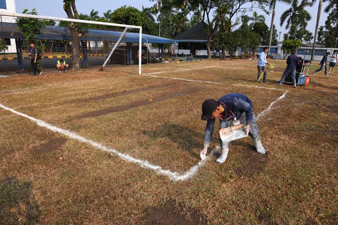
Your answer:
[[[189,215],[182,215],[179,213],[180,209],[175,209],[175,202],[169,200],[165,204],[165,208],[155,209],[150,208],[146,210],[145,224],[147,225],[195,225],[206,224],[200,222],[197,210],[189,210]]]

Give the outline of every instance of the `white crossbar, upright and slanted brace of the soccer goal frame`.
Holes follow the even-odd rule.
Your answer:
[[[125,33],[126,29],[139,29],[139,43],[138,43],[139,49],[138,49],[138,52],[139,52],[139,55],[141,56],[142,27],[140,27],[140,26],[113,24],[111,22],[98,22],[98,21],[92,21],[92,20],[69,19],[69,18],[62,18],[62,17],[20,14],[20,13],[11,13],[11,12],[0,12],[0,15],[1,16],[11,16],[11,17],[33,18],[33,19],[49,19],[49,20],[67,21],[67,22],[82,22],[83,24],[96,24],[96,25],[105,25],[105,26],[112,26],[112,27],[123,27],[123,28],[125,28],[124,33]],[[116,46],[114,46],[114,48],[116,48]],[[113,54],[113,52],[115,50],[114,48],[112,49],[111,54]],[[141,61],[142,60],[140,60],[140,59],[138,60],[138,74],[141,74]],[[104,62],[103,67],[104,67],[105,63],[107,63],[107,62]]]

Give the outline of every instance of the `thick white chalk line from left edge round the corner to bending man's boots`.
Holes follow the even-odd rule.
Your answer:
[[[8,111],[11,111],[13,114],[16,114],[18,116],[25,117],[25,118],[27,118],[27,119],[35,122],[40,127],[47,128],[49,130],[52,130],[53,132],[58,132],[58,133],[64,134],[65,136],[67,136],[67,137],[69,137],[71,139],[75,139],[77,141],[90,144],[90,145],[92,145],[95,148],[101,149],[102,151],[107,151],[107,152],[110,152],[111,154],[116,154],[116,155],[118,155],[124,161],[135,163],[135,164],[139,164],[142,168],[145,167],[147,169],[154,170],[158,174],[165,175],[165,176],[169,177],[170,179],[172,179],[173,181],[185,181],[186,179],[191,178],[192,176],[194,176],[197,173],[197,171],[198,171],[198,169],[200,167],[202,167],[202,166],[205,165],[205,162],[206,162],[206,161],[200,161],[198,164],[196,164],[195,166],[193,166],[189,170],[185,171],[182,174],[179,174],[177,172],[172,172],[170,170],[165,170],[165,169],[163,169],[160,166],[153,165],[153,164],[149,163],[146,160],[139,160],[139,159],[136,159],[133,156],[130,156],[128,154],[121,153],[121,152],[119,152],[119,151],[117,151],[115,149],[112,149],[112,148],[108,148],[108,147],[106,147],[106,146],[104,146],[104,145],[102,145],[100,143],[97,143],[97,142],[92,141],[90,139],[86,139],[86,138],[84,138],[82,136],[79,136],[78,134],[76,134],[76,133],[74,133],[74,132],[72,132],[70,130],[65,130],[65,129],[59,128],[57,126],[53,126],[51,124],[48,124],[48,123],[46,123],[46,122],[44,122],[42,120],[38,120],[36,118],[30,117],[30,116],[28,116],[26,114],[19,113],[18,111],[15,111],[14,109],[11,109],[9,107],[4,106],[3,104],[0,104],[0,108],[3,108],[3,109],[8,110]],[[210,154],[210,155],[213,155],[217,151],[218,148],[219,147],[216,147],[215,149],[213,149],[212,150],[212,154]],[[207,159],[210,158],[210,155],[207,157]]]

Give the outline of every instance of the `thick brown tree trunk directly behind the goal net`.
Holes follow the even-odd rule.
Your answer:
[[[70,19],[79,19],[79,13],[77,12],[75,0],[64,0],[64,10],[67,13],[68,18]],[[83,36],[82,29],[76,29],[76,25],[74,22],[69,22],[68,24],[69,30],[72,34],[72,50],[73,50],[73,58],[72,58],[72,70],[79,70],[80,66],[80,40]]]

